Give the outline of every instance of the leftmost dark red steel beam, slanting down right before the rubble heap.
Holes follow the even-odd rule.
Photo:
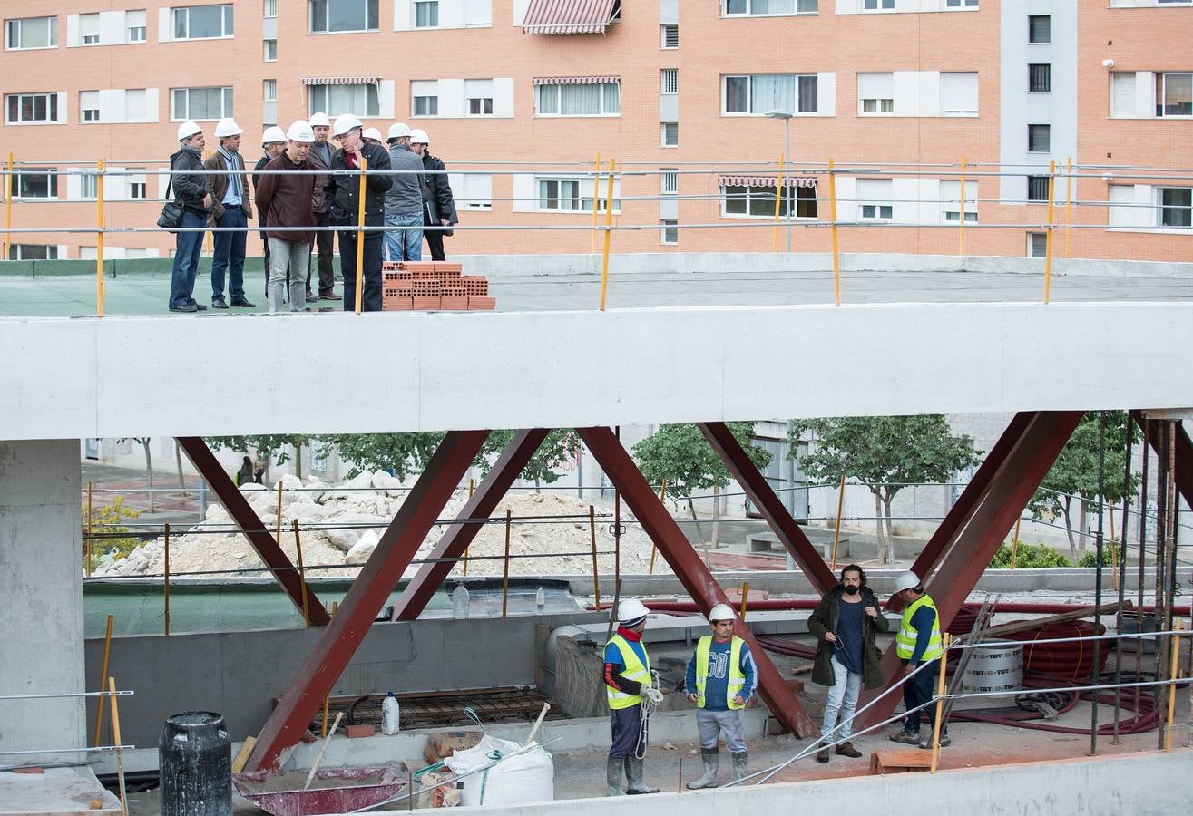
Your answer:
[[[273,573],[290,601],[302,612],[302,587],[303,582],[298,577],[298,570],[286,557],[286,554],[278,545],[278,542],[265,527],[265,523],[256,514],[256,511],[248,503],[243,494],[236,488],[231,478],[224,472],[223,466],[216,459],[211,449],[199,437],[178,437],[178,446],[183,449],[194,469],[208,481],[211,489],[216,492],[220,502],[228,511],[236,526],[245,533],[249,545],[256,551],[265,565]],[[323,626],[330,620],[323,604],[315,595],[310,585],[307,585],[307,612],[311,625]]]

